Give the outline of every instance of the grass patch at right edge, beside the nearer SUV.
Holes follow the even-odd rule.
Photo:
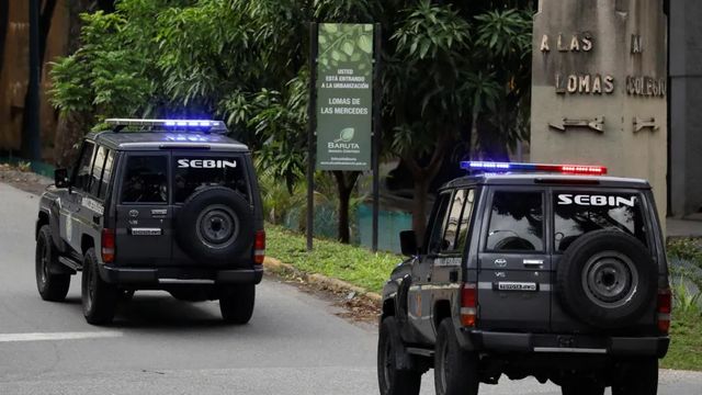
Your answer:
[[[673,314],[670,349],[661,365],[666,369],[702,370],[702,317]]]

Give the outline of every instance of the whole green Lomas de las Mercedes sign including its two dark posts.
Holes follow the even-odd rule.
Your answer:
[[[373,24],[310,24],[308,251],[313,249],[315,165],[329,171],[373,170],[373,250],[377,249],[380,102],[374,94],[380,98],[381,92],[380,52],[374,46],[378,40],[380,29]]]

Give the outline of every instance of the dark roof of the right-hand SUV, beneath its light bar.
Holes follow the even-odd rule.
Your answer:
[[[461,177],[445,183],[442,189],[471,185],[551,185],[577,188],[650,189],[646,180],[609,176],[577,176],[548,172],[536,173],[480,173]]]

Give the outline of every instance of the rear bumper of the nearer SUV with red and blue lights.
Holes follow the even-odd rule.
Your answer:
[[[541,335],[514,332],[487,332],[462,329],[460,342],[468,350],[496,352],[534,352],[599,356],[656,356],[668,352],[670,338],[661,337],[609,337],[587,335]]]

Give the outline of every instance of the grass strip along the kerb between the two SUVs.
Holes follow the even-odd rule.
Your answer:
[[[315,239],[314,249],[307,252],[305,236],[265,224],[267,255],[290,263],[307,273],[319,273],[343,280],[372,292],[381,292],[390,271],[403,258],[377,252],[338,241]]]

